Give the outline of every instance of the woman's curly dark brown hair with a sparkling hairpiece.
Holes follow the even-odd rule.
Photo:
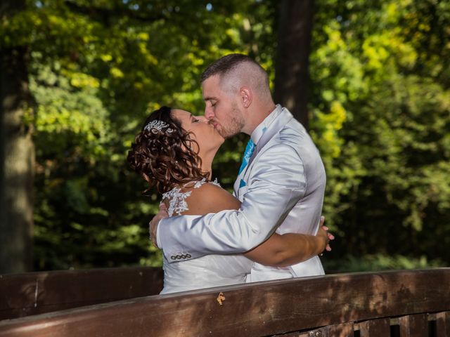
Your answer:
[[[156,128],[146,129],[151,121],[163,121],[167,127],[160,131]],[[169,132],[170,129],[172,132]],[[202,161],[198,152],[192,150],[198,149],[198,143],[191,138],[191,133],[181,128],[181,122],[172,117],[170,107],[161,107],[152,112],[134,142],[127,161],[131,169],[148,182],[149,187],[144,193],[156,187],[162,194],[209,176],[208,172],[200,169]]]

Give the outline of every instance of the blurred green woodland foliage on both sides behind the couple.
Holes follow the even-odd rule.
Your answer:
[[[147,227],[160,196],[141,194],[127,150],[160,105],[202,114],[200,73],[226,53],[255,58],[274,86],[281,2],[3,8],[1,53],[25,55],[19,125],[35,150],[34,244],[22,244],[32,262],[8,267],[21,244],[8,237],[18,222],[4,218],[1,271],[161,265]],[[336,236],[326,271],[449,265],[450,1],[314,1],[308,83],[309,131],[328,177],[323,213]],[[227,140],[214,162],[230,191],[247,139]]]

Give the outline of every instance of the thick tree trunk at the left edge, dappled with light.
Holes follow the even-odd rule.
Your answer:
[[[0,18],[25,8],[1,1]],[[0,274],[32,270],[34,145],[27,48],[0,47]]]

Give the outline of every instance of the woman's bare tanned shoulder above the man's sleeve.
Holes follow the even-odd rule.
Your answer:
[[[205,183],[197,188],[191,187],[189,190],[191,190],[191,196],[186,200],[189,209],[184,214],[203,215],[240,207],[238,199],[212,183]]]

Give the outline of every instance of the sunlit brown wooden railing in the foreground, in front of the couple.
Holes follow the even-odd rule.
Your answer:
[[[157,272],[149,271],[148,275]],[[129,275],[139,279],[132,272]],[[0,284],[4,279],[8,275],[0,278]],[[111,286],[102,277],[97,276],[96,280],[101,280],[105,287]],[[115,279],[110,279],[109,283],[114,282]],[[65,308],[89,303],[89,296],[96,302],[102,297],[96,291],[89,296],[83,293],[86,289],[101,289],[94,283],[84,283],[78,290],[73,287],[71,303],[65,295],[53,298],[65,298]],[[134,296],[133,291],[128,292],[129,288],[125,290],[126,284],[129,283],[124,282],[124,289],[117,293]],[[151,284],[145,286],[152,289]],[[149,294],[159,287],[160,284]],[[0,286],[2,303],[3,298],[8,298],[4,294],[6,288]],[[62,293],[63,288],[62,284],[56,286]],[[113,289],[117,287],[100,292],[116,291]],[[36,309],[39,289],[37,292]],[[113,296],[105,297],[106,300],[120,297],[110,295]],[[77,302],[75,298],[83,299]],[[33,313],[30,309],[33,306],[33,302],[25,305],[24,311]],[[46,308],[57,307],[49,302]],[[14,310],[18,312],[18,308]],[[4,336],[444,337],[450,336],[450,268],[305,277],[115,300],[4,319],[0,322],[0,337]]]

